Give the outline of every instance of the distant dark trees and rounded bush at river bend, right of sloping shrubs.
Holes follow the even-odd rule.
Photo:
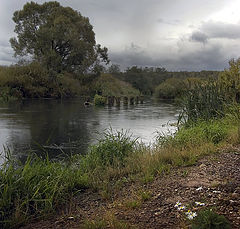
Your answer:
[[[119,66],[112,65],[108,70],[113,76],[130,83],[143,95],[171,99],[181,94],[189,86],[204,79],[217,79],[220,71],[170,72],[165,68],[133,66],[121,72]]]

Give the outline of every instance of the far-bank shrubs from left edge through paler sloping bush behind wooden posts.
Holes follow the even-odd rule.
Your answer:
[[[22,98],[73,98],[81,95],[135,96],[139,91],[111,74],[49,71],[37,62],[0,67],[0,100]]]

